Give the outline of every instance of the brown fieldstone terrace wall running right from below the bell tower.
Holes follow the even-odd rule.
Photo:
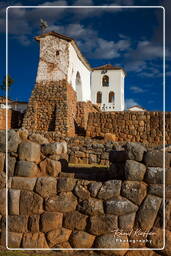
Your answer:
[[[171,113],[166,112],[166,144],[171,143]],[[117,141],[163,144],[163,112],[90,113],[86,135],[103,137],[112,133]]]

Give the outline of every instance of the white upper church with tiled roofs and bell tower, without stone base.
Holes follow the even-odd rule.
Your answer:
[[[124,69],[110,64],[92,68],[75,40],[56,32],[35,39],[40,42],[37,83],[66,79],[77,101],[91,101],[102,111],[124,110]]]

